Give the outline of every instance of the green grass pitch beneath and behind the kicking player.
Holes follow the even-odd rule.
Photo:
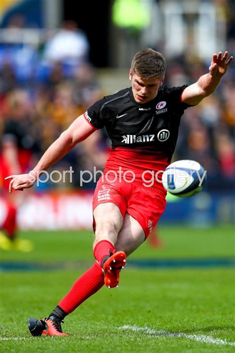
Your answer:
[[[163,245],[145,242],[130,260],[234,256],[233,226],[161,226]],[[0,352],[235,352],[232,267],[136,268],[127,262],[116,289],[103,287],[65,318],[70,337],[30,335],[28,317],[43,318],[93,263],[91,232],[21,232],[30,253],[0,251],[0,264],[53,269],[0,273]],[[131,263],[131,261],[129,261]]]

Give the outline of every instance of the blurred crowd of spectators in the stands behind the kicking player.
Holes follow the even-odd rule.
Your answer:
[[[167,62],[168,86],[194,83],[208,72],[208,63],[189,53]],[[104,94],[112,93],[100,88],[89,61],[86,35],[71,21],[40,52],[27,45],[0,44],[0,149],[1,155],[5,153],[11,160],[8,172],[32,169],[76,117]],[[233,63],[217,91],[185,111],[174,159],[197,160],[208,171],[211,187],[225,188],[235,178],[234,138]],[[79,171],[93,170],[94,165],[103,169],[109,149],[106,132],[97,131],[54,167],[63,170],[72,165],[73,184],[45,183],[38,190],[79,187]]]

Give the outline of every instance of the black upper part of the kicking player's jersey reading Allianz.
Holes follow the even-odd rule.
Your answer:
[[[185,87],[162,86],[157,96],[144,104],[134,100],[131,87],[125,88],[97,101],[84,116],[95,128],[106,127],[114,148],[151,147],[171,157],[180,118],[190,107],[180,100]]]

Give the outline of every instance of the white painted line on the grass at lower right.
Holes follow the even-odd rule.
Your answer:
[[[145,332],[149,337],[170,337],[170,338],[187,338],[192,341],[202,342],[202,343],[210,343],[214,345],[223,345],[223,346],[235,346],[235,342],[228,342],[226,340],[221,340],[219,338],[214,338],[211,336],[205,335],[188,335],[183,332],[170,332],[170,331],[156,331],[154,329],[150,329],[148,327],[138,327],[132,325],[124,325],[120,327],[123,330],[131,330],[134,332]]]

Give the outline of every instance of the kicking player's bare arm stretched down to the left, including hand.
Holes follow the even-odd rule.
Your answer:
[[[80,115],[69,128],[51,144],[29,174],[10,175],[5,178],[5,180],[11,179],[9,183],[9,193],[11,193],[12,189],[22,191],[23,189],[31,188],[41,171],[52,167],[78,142],[84,141],[88,136],[94,133],[95,130],[96,129],[87,122],[84,116]]]

